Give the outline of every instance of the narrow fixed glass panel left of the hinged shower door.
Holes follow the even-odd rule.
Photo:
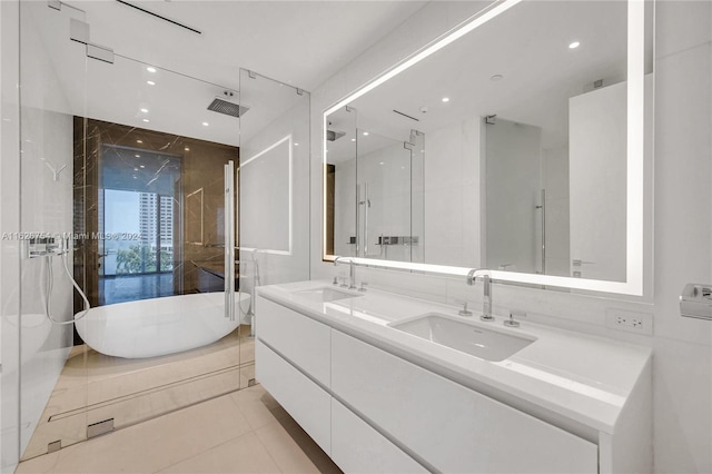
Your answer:
[[[19,2],[19,444],[17,454],[3,453],[16,461],[86,440],[89,399],[87,348],[73,345],[68,276],[76,257],[72,116],[82,107],[87,63],[86,48],[69,39],[69,27],[86,18],[82,11],[56,10],[47,2]],[[69,83],[71,90],[62,87]],[[10,367],[2,362],[4,378]]]

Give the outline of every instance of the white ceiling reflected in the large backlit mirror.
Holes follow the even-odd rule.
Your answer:
[[[625,80],[626,31],[625,2],[523,2],[349,106],[358,128],[400,140],[417,129],[427,144],[435,130],[497,115],[540,127],[545,148],[566,146],[568,98],[599,79],[606,86]],[[573,41],[581,46],[570,49]],[[491,80],[495,75],[503,79]],[[342,129],[349,120],[342,111],[333,119]],[[354,156],[346,138],[328,144],[329,161]],[[367,137],[356,138],[359,155],[373,149]]]

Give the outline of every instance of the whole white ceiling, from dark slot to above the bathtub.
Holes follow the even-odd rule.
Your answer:
[[[240,68],[312,90],[413,14],[423,1],[132,1],[200,30],[197,34],[113,0],[22,2],[23,103],[117,124],[239,145],[237,119],[206,110],[239,89]],[[90,41],[117,55],[87,60],[69,40],[70,18],[90,26]],[[128,59],[131,58],[131,59]],[[148,72],[147,65],[158,67]],[[147,80],[156,82],[148,86]],[[267,85],[249,103],[257,130],[294,101]],[[255,91],[256,92],[256,91]],[[274,92],[274,93],[273,93]],[[267,103],[271,101],[271,103]],[[265,106],[265,107],[260,107]],[[141,112],[148,109],[148,115]],[[263,110],[269,109],[269,113]],[[149,122],[144,121],[149,119]],[[208,127],[201,124],[206,121]],[[245,125],[245,124],[243,124]],[[245,140],[245,127],[243,137]]]

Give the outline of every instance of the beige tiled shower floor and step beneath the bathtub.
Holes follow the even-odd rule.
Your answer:
[[[113,418],[122,428],[247,387],[255,377],[248,335],[249,326],[241,326],[209,346],[142,359],[76,346],[22,458],[43,455],[56,441],[81,442],[93,423]]]

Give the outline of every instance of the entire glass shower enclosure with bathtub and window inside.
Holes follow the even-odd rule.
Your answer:
[[[255,384],[255,288],[308,279],[310,254],[308,92],[200,80],[92,45],[72,6],[12,6],[3,468]],[[32,258],[26,236],[43,239]]]

